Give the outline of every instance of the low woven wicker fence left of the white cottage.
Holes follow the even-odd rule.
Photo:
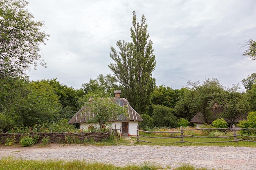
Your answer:
[[[26,135],[34,136],[36,133],[1,133],[0,134],[0,144],[4,144],[7,139],[14,139],[15,143],[20,141],[21,137]],[[79,142],[83,143],[86,141],[103,141],[108,139],[108,132],[44,132],[37,133],[39,136],[38,143],[42,141],[43,138],[49,137],[49,142],[51,143],[72,143]]]

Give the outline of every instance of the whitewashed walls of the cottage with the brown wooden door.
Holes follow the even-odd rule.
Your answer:
[[[120,129],[120,127],[122,126],[122,122],[121,121],[114,121],[112,123],[112,128],[115,128],[115,125],[117,125],[117,129]],[[138,121],[129,121],[129,134],[130,136],[134,136],[137,135],[137,126],[139,125]],[[88,130],[88,126],[94,126],[94,128],[99,128],[99,124],[80,124],[80,129],[83,129],[85,131]],[[122,132],[121,132],[122,133]]]

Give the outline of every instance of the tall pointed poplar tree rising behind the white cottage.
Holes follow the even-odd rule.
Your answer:
[[[155,88],[152,72],[155,69],[153,42],[148,40],[146,18],[139,23],[133,11],[133,27],[130,29],[132,42],[117,41],[119,51],[111,46],[110,57],[115,63],[108,66],[123,86],[122,94],[138,113],[144,113],[150,104]]]

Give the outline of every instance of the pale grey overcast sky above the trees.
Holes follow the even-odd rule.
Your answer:
[[[157,86],[173,89],[191,80],[217,78],[238,84],[256,72],[241,48],[256,40],[255,0],[28,0],[34,20],[50,34],[41,46],[47,68],[30,80],[53,79],[73,88],[112,74],[110,46],[131,42],[132,11],[144,14],[155,49]],[[240,83],[242,86],[242,84]]]

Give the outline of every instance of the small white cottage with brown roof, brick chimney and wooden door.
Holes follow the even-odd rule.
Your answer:
[[[115,97],[112,102],[123,106],[126,112],[128,113],[126,117],[121,117],[120,119],[111,119],[109,122],[112,127],[121,127],[121,135],[122,136],[133,136],[137,135],[137,126],[139,125],[139,121],[143,121],[140,115],[130,106],[129,102],[125,98],[121,98],[121,91],[115,91]],[[93,114],[90,113],[89,106],[83,106],[76,115],[68,121],[68,124],[80,124],[80,129],[88,130],[89,126],[99,127],[99,124],[88,124],[88,117],[93,117]]]

